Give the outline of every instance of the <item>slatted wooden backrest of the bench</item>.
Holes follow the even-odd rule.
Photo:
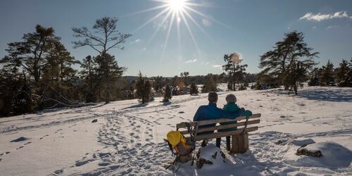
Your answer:
[[[186,137],[189,137],[189,133],[193,134],[196,141],[200,141],[203,139],[214,139],[218,137],[227,137],[232,136],[235,134],[241,134],[242,132],[253,132],[258,130],[258,127],[253,126],[254,124],[258,124],[260,122],[260,113],[253,114],[249,117],[241,116],[236,119],[228,119],[228,118],[220,118],[216,120],[201,120],[201,121],[194,121],[194,122],[182,122],[176,125],[177,130],[180,129],[180,132],[184,134]],[[230,125],[220,125],[220,122],[236,122],[236,124]],[[203,127],[200,128],[201,125],[210,125],[215,124],[214,127]],[[187,129],[187,125],[191,127],[192,130]],[[237,127],[237,130],[233,131],[225,131],[225,132],[218,132],[217,130],[228,129],[232,127]],[[198,135],[200,132],[212,132],[211,134],[201,134]]]

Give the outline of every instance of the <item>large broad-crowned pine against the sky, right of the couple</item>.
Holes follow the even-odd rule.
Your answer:
[[[296,69],[294,65],[310,70],[316,64],[313,59],[319,53],[313,52],[303,39],[302,32],[284,34],[284,39],[277,42],[272,51],[260,56],[259,68],[264,69],[258,74],[260,81],[265,84],[283,84],[288,89],[292,82],[288,78],[294,74],[292,70]]]

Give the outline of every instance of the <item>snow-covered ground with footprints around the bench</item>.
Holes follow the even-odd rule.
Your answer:
[[[219,92],[219,107],[228,93]],[[262,115],[249,151],[225,152],[224,165],[164,168],[173,158],[163,138],[208,103],[200,94],[0,118],[0,175],[352,175],[351,88],[305,87],[299,96],[279,89],[231,93],[239,106]],[[322,158],[296,156],[302,144]]]

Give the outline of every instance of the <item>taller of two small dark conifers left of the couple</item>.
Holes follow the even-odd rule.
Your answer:
[[[141,72],[139,72],[134,87],[137,89],[136,96],[142,103],[150,101],[152,84],[146,77],[143,77]]]

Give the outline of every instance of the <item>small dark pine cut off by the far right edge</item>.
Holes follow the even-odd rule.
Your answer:
[[[351,68],[348,66],[348,61],[342,59],[340,63],[340,67],[335,70],[335,78],[337,81],[337,86],[339,87],[348,87],[348,84],[351,80],[348,72],[350,72]]]

